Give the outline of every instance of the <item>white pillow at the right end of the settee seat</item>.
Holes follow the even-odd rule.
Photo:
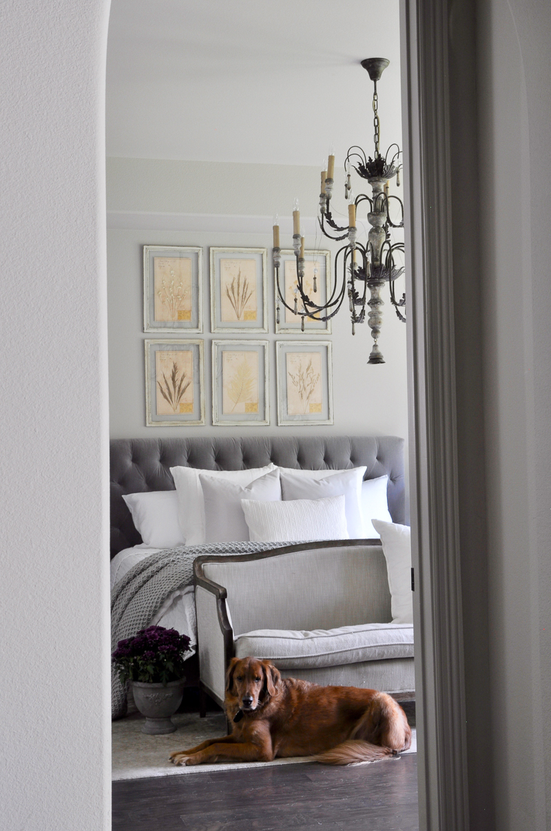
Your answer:
[[[412,543],[409,526],[382,522],[380,519],[373,519],[373,526],[381,534],[387,561],[393,623],[412,623]]]

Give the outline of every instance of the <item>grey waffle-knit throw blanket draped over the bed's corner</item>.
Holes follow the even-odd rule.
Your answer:
[[[163,602],[178,588],[193,584],[193,560],[202,554],[248,554],[290,543],[209,543],[167,548],[136,563],[111,593],[111,652],[126,637],[149,625]],[[126,715],[126,688],[111,666],[111,717]]]

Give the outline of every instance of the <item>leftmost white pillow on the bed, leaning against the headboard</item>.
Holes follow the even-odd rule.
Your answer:
[[[148,490],[123,494],[136,530],[149,548],[174,548],[186,540],[178,522],[178,494],[175,490]]]

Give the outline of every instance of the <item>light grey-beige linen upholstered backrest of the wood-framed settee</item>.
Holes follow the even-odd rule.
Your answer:
[[[380,546],[312,548],[242,562],[204,563],[227,589],[234,635],[255,629],[334,629],[392,620]]]

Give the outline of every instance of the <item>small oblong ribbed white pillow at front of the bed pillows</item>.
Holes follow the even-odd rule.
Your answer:
[[[348,539],[344,496],[257,502],[241,499],[249,538],[255,543],[292,543],[301,539]]]

